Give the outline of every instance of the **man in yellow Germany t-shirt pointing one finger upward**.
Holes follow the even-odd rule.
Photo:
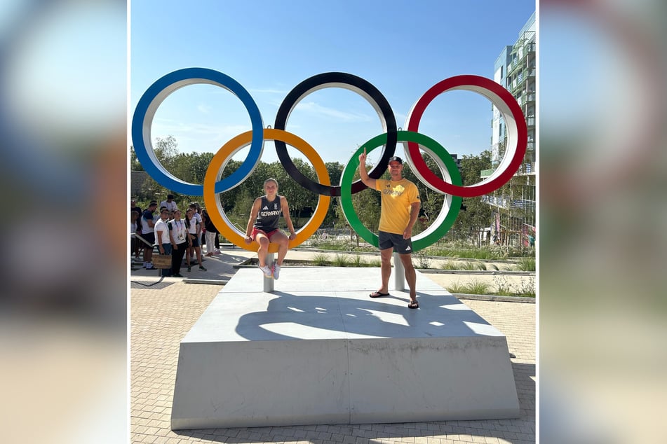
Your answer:
[[[371,298],[389,296],[389,276],[391,276],[391,253],[393,249],[405,268],[405,280],[410,287],[409,308],[419,308],[417,303],[417,273],[412,266],[412,227],[415,226],[422,206],[419,190],[415,183],[403,179],[403,160],[398,156],[389,158],[391,180],[371,179],[366,172],[366,150],[359,155],[361,181],[382,193],[379,223],[379,249],[382,260],[382,286]]]

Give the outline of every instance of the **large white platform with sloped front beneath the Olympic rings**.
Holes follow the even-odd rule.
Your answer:
[[[518,417],[505,336],[417,272],[283,268],[229,281],[182,340],[172,429]]]

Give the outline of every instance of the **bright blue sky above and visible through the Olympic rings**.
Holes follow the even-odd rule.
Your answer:
[[[243,85],[274,126],[276,111],[298,83],[343,71],[364,78],[388,99],[398,127],[426,90],[460,74],[493,77],[493,64],[535,11],[534,1],[173,1],[130,4],[130,116],[143,93],[177,69],[215,69]],[[474,92],[438,96],[419,132],[450,153],[490,146],[491,104]],[[188,85],[156,111],[151,138],[172,135],[178,150],[215,153],[250,130],[245,106],[214,85]],[[344,88],[304,97],[286,130],[314,146],[325,162],[345,163],[381,134],[375,109]],[[243,160],[247,149],[235,159]],[[398,146],[397,153],[402,153]],[[290,154],[301,157],[294,148]],[[379,150],[369,156],[379,158]],[[277,160],[264,144],[262,160]]]

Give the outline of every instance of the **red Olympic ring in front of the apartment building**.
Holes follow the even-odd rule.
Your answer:
[[[419,121],[422,119],[426,106],[443,92],[453,90],[478,92],[499,109],[507,127],[507,148],[500,165],[480,183],[456,186],[443,181],[426,166],[422,153],[419,152],[419,144],[406,142],[405,157],[408,164],[411,167],[414,166],[415,175],[420,180],[427,184],[430,183],[442,193],[461,197],[476,197],[491,193],[507,183],[523,162],[528,141],[528,130],[523,112],[510,92],[498,83],[480,76],[454,76],[436,83],[417,100],[410,113],[407,114],[405,123],[407,130],[419,132]]]

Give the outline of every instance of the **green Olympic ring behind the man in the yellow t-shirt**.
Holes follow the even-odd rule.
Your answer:
[[[347,162],[340,179],[340,204],[345,218],[352,229],[355,230],[363,240],[375,247],[378,247],[377,234],[372,233],[372,231],[361,223],[361,220],[359,220],[352,205],[351,184],[354,172],[356,172],[356,169],[359,166],[359,155],[363,152],[364,148],[370,152],[375,148],[386,144],[386,136],[386,132],[384,134],[379,134],[361,145],[358,150],[353,153],[350,161]],[[398,141],[410,141],[419,144],[420,148],[430,153],[436,160],[436,163],[438,163],[438,166],[440,167],[440,172],[445,176],[445,181],[450,181],[456,186],[461,185],[461,174],[459,174],[456,162],[452,159],[452,155],[447,153],[445,147],[438,144],[437,141],[424,134],[412,131],[398,131]],[[429,228],[412,238],[412,251],[419,251],[420,249],[429,247],[429,245],[440,240],[440,238],[447,233],[447,230],[454,225],[454,221],[461,209],[461,202],[462,198],[460,196],[447,194],[445,201],[443,202],[443,208],[440,210],[440,214],[438,214],[436,220],[431,223]]]

